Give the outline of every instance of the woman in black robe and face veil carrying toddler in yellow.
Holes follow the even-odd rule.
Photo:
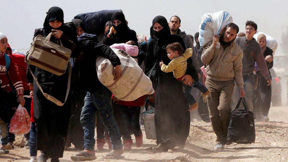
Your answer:
[[[150,28],[152,41],[148,45],[145,73],[157,62],[158,79],[155,90],[155,126],[157,143],[161,145],[158,151],[167,151],[176,146],[184,148],[185,141],[189,135],[190,113],[189,103],[186,101],[182,92],[182,86],[177,81],[173,73],[161,71],[159,62],[161,60],[168,65],[171,61],[165,50],[166,46],[173,42],[179,42],[184,50],[185,44],[179,35],[171,35],[167,20],[163,16],[153,19]],[[162,50],[163,49],[163,50]],[[161,59],[158,60],[158,58]],[[192,60],[187,60],[187,71],[184,76],[184,84],[191,84],[192,77],[198,79],[197,71],[192,66]]]

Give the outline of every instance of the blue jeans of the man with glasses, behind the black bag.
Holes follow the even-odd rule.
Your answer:
[[[245,101],[248,106],[249,111],[253,111],[253,96],[254,96],[254,76],[253,73],[248,75],[243,75],[243,81],[244,81],[244,91],[246,93],[245,95]],[[232,110],[235,109],[238,101],[240,99],[239,94],[239,88],[238,86],[234,87],[233,96],[232,96],[232,102],[231,102],[231,108]],[[240,108],[243,109],[243,104],[240,104]]]

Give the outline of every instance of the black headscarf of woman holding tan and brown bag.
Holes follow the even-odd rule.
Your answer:
[[[64,14],[63,14],[63,10],[60,7],[51,7],[48,10],[44,24],[43,24],[44,36],[47,36],[51,32],[51,30],[54,29],[53,27],[49,25],[49,22],[54,21],[54,20],[58,20],[62,22],[62,25],[57,28],[57,30],[62,30],[64,26]]]

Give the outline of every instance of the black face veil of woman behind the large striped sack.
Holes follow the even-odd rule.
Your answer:
[[[121,21],[121,23],[117,26],[113,25],[113,23],[112,23],[112,26],[114,27],[114,29],[117,32],[117,35],[126,34],[126,32],[128,30],[128,26],[127,26],[124,14],[122,12],[114,12],[114,14],[112,14],[112,17],[111,17],[111,22],[113,22],[114,20]]]

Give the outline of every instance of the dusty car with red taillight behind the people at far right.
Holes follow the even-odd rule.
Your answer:
[[[272,106],[281,106],[282,105],[282,91],[281,91],[281,77],[277,77],[276,73],[273,68],[270,69],[271,76],[272,76],[272,96],[271,102]]]

